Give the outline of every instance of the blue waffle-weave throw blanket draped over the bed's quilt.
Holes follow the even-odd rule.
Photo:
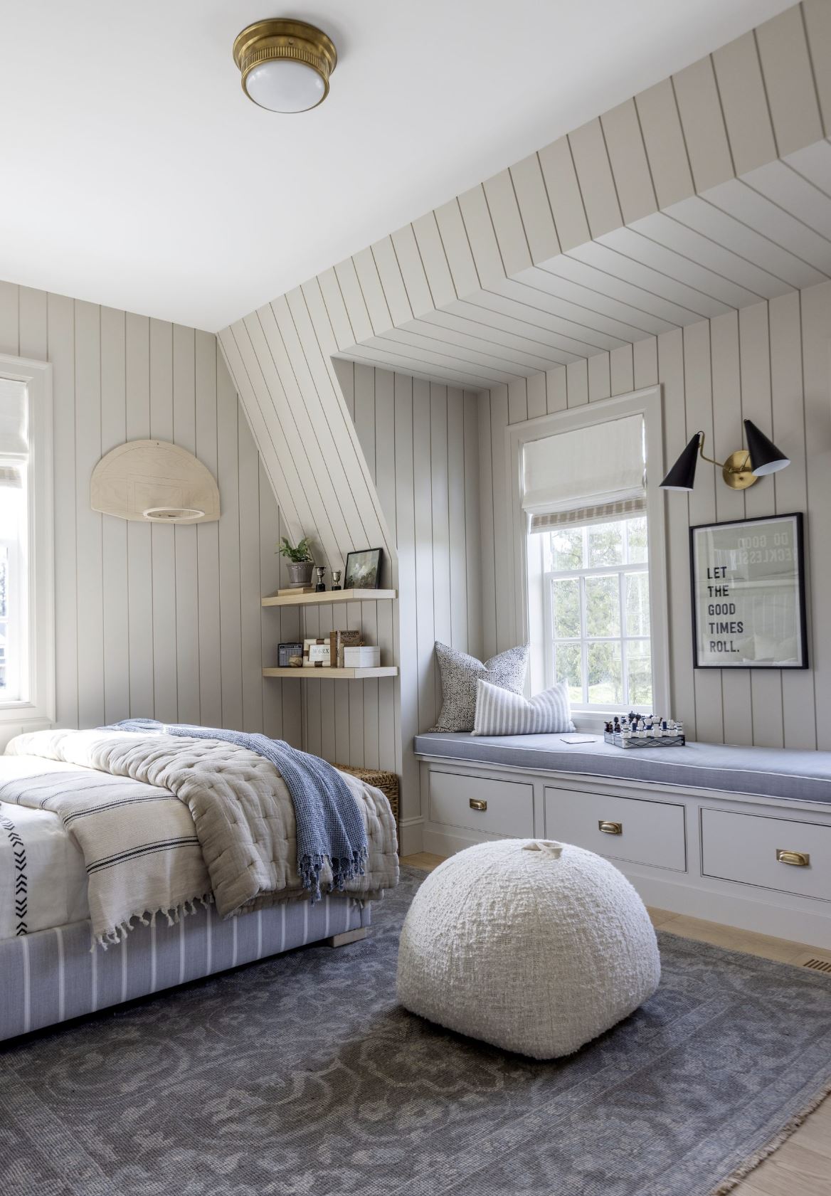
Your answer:
[[[191,727],[185,722],[124,719],[104,730],[222,739],[256,752],[274,764],[292,795],[298,834],[298,871],[304,889],[311,890],[312,902],[320,899],[320,869],[324,864],[331,867],[332,889],[342,890],[348,880],[363,875],[367,840],[358,803],[337,769],[319,756],[298,751],[282,739],[221,727]]]

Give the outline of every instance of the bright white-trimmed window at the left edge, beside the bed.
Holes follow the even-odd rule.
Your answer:
[[[50,367],[0,355],[0,722],[54,718]]]

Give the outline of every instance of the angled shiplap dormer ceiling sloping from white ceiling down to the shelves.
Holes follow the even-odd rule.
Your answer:
[[[830,130],[805,0],[222,331],[289,524],[395,560],[332,356],[484,389],[831,276]]]

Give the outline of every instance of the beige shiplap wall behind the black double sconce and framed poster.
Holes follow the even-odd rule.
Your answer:
[[[509,518],[509,423],[652,386],[664,389],[664,452],[672,462],[703,428],[708,456],[741,445],[752,419],[790,456],[788,469],[729,490],[702,462],[695,490],[668,494],[667,562],[673,714],[691,738],[769,748],[831,749],[831,282],[495,388],[481,396],[484,652],[515,640],[513,581],[500,567]],[[806,512],[809,670],[692,667],[689,529]]]

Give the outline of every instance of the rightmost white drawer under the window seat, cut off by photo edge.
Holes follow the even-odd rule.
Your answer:
[[[705,877],[831,901],[831,826],[703,808],[701,858]]]

